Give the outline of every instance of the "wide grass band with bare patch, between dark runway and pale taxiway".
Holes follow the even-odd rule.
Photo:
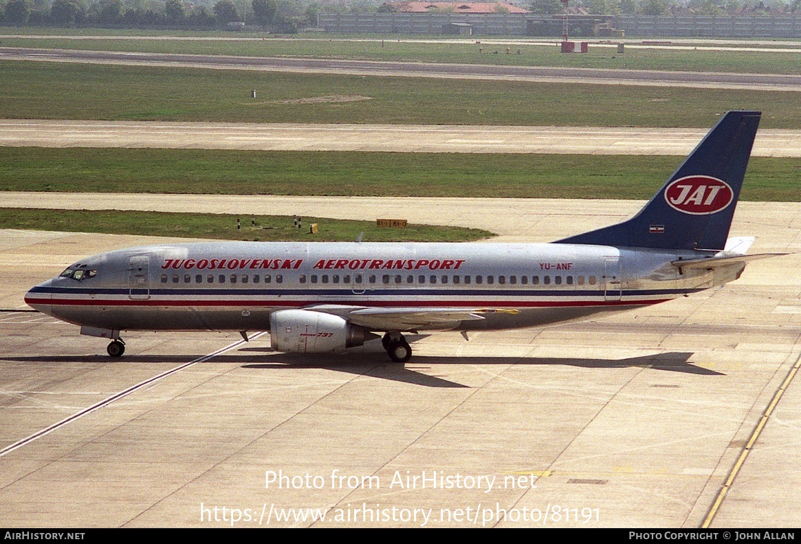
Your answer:
[[[781,91],[51,62],[0,62],[0,73],[5,119],[710,127],[723,111],[755,109],[763,111],[763,128],[801,127],[798,94]],[[332,95],[365,99],[292,102]]]

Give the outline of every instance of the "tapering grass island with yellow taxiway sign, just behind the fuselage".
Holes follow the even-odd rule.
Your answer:
[[[236,219],[242,220],[241,230]],[[295,228],[292,217],[224,214],[119,212],[87,210],[42,210],[0,208],[0,228],[23,228],[40,231],[105,232],[143,236],[178,236],[211,240],[254,241],[340,241],[352,242],[364,233],[365,242],[467,242],[494,236],[477,228],[409,225],[407,228],[378,228],[374,221],[332,220],[304,217],[303,228]],[[317,234],[309,225],[318,225]]]

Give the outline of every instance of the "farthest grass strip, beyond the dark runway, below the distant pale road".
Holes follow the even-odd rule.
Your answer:
[[[432,37],[420,37],[432,38]],[[484,42],[481,42],[482,38]],[[2,46],[54,49],[139,51],[146,53],[224,54],[248,57],[350,58],[361,60],[457,62],[516,66],[564,66],[583,68],[623,68],[628,70],[719,71],[738,73],[801,74],[801,47],[780,50],[709,50],[706,46],[686,50],[628,47],[618,54],[614,46],[592,45],[586,54],[562,54],[554,44],[516,37],[506,54],[502,38],[481,37],[460,41],[412,42],[403,38],[360,36],[354,38],[256,38],[231,39],[147,39],[110,38],[6,38]],[[581,39],[581,38],[577,38]],[[489,43],[487,43],[489,41]],[[511,41],[511,40],[509,40]],[[741,48],[742,49],[742,48]],[[517,54],[517,51],[520,54]],[[497,54],[494,52],[497,51]]]

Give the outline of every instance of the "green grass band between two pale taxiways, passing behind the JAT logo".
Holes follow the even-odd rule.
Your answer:
[[[0,191],[647,199],[671,156],[0,147]],[[799,201],[801,159],[756,157],[742,199]]]

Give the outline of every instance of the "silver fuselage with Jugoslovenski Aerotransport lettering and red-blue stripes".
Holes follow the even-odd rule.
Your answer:
[[[671,264],[709,255],[582,244],[156,245],[80,260],[70,268],[95,276],[48,280],[26,302],[113,331],[267,330],[271,312],[320,305],[475,309],[483,319],[429,328],[522,328],[656,304],[742,271]]]

